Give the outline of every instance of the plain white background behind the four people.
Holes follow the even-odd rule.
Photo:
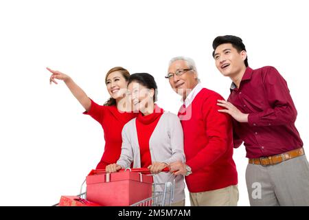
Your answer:
[[[76,195],[104,149],[102,128],[45,67],[69,74],[99,104],[115,66],[148,72],[159,106],[180,97],[163,77],[173,56],[196,61],[204,87],[225,98],[229,78],[211,56],[218,35],[240,36],[249,65],[273,65],[288,82],[308,147],[307,1],[0,1],[0,186],[2,206],[50,206]],[[234,151],[240,206],[249,200],[244,147]],[[187,197],[187,205],[189,205]]]

